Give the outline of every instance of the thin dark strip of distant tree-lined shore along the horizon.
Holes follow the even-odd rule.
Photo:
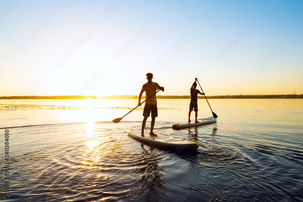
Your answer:
[[[138,95],[113,95],[113,96],[84,96],[84,95],[57,95],[57,96],[1,96],[0,99],[138,99]],[[158,95],[158,99],[190,99],[190,95]],[[199,99],[205,99],[199,95]],[[215,95],[207,96],[208,99],[302,99],[303,94],[280,95]]]

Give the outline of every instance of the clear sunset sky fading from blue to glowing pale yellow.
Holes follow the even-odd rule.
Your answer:
[[[0,96],[303,94],[303,1],[0,2]]]

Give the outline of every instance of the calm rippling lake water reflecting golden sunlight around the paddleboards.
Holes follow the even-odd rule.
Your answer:
[[[112,122],[136,99],[0,100],[1,200],[303,201],[303,100],[209,103],[217,123],[174,130],[189,100],[158,99],[156,131],[199,144],[180,152],[127,136],[142,107]]]

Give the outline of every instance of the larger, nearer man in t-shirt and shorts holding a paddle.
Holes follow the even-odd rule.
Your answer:
[[[151,112],[151,122],[150,122],[150,132],[149,135],[152,136],[157,136],[153,130],[154,130],[154,126],[155,126],[155,120],[156,117],[158,117],[158,109],[157,109],[157,97],[156,97],[156,91],[157,89],[161,89],[162,91],[164,91],[164,87],[161,87],[158,83],[153,82],[153,74],[151,73],[147,73],[146,74],[146,78],[147,78],[147,83],[143,84],[142,86],[142,90],[139,94],[139,102],[138,102],[138,106],[141,106],[141,97],[143,92],[145,91],[145,105],[144,105],[144,110],[143,110],[143,121],[142,121],[142,129],[141,129],[141,136],[144,137],[144,128],[145,128],[145,124],[146,124],[146,120],[149,117],[149,114]],[[154,95],[153,95],[154,94]],[[151,96],[153,95],[153,96]]]

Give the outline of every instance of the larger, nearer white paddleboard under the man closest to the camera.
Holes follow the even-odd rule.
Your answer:
[[[198,148],[199,144],[196,142],[191,142],[183,139],[179,139],[176,137],[170,137],[167,135],[162,135],[157,133],[157,137],[150,136],[149,131],[144,132],[144,137],[141,136],[141,130],[127,130],[127,134],[133,139],[140,141],[144,144],[149,144],[155,147],[162,147],[168,149],[190,149],[190,148]]]

